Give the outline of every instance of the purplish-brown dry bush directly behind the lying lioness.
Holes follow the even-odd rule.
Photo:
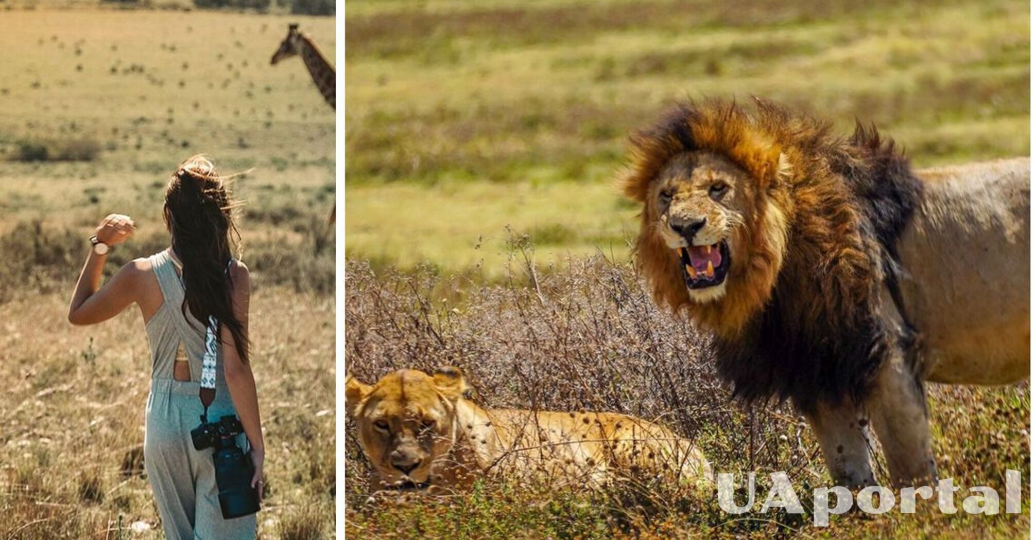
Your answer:
[[[630,265],[596,257],[569,260],[563,271],[518,266],[502,284],[479,286],[430,270],[379,277],[349,263],[346,372],[373,382],[403,367],[456,365],[484,407],[657,420],[698,440],[721,471],[773,469],[785,458],[800,469],[816,458],[789,409],[745,412],[726,401],[708,337],[659,310]]]

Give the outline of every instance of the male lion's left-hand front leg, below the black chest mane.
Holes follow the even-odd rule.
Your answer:
[[[835,485],[854,488],[877,483],[869,464],[868,419],[862,407],[848,399],[836,406],[821,402],[806,416]]]

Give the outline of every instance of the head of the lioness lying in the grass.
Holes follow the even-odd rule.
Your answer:
[[[346,409],[386,487],[420,489],[434,481],[435,466],[455,443],[456,400],[465,387],[463,373],[451,366],[434,376],[400,369],[373,386],[346,380]]]

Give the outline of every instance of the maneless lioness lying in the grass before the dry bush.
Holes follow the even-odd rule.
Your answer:
[[[433,492],[487,473],[598,487],[644,472],[711,478],[704,454],[668,428],[615,413],[487,410],[464,397],[456,367],[346,380],[346,407],[374,466],[372,490]]]

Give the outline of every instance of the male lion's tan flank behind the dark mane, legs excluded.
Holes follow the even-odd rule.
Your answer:
[[[1024,157],[917,171],[924,197],[898,245],[927,381],[1028,378],[1030,164]]]

